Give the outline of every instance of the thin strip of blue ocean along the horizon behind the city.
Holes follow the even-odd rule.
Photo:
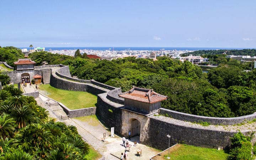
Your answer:
[[[20,49],[30,47],[20,47]],[[33,49],[34,47],[32,47]],[[216,49],[252,49],[252,48],[210,48],[210,47],[45,47],[46,51],[52,50],[74,50],[74,49],[88,49],[88,50],[216,50]]]

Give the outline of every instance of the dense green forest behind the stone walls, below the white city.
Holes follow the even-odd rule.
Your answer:
[[[232,59],[220,60],[217,68],[203,74],[199,66],[181,63],[169,57],[136,59],[127,57],[112,61],[86,59],[81,56],[35,52],[29,55],[37,64],[70,66],[72,75],[80,79],[122,87],[154,89],[167,95],[162,107],[201,116],[234,117],[256,111],[256,69],[250,72],[250,63],[241,64]]]

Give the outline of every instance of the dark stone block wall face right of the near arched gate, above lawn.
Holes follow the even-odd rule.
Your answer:
[[[215,148],[222,146],[225,148],[230,144],[230,137],[236,132],[208,130],[193,127],[186,127],[150,118],[147,139],[144,144],[164,150],[168,148],[167,134],[171,136],[170,145],[176,143],[186,143],[189,145]]]

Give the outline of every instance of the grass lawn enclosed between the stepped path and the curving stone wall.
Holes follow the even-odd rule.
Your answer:
[[[63,103],[70,110],[95,107],[97,103],[97,96],[88,92],[61,90],[49,84],[40,85],[39,90],[46,91],[48,97]]]

